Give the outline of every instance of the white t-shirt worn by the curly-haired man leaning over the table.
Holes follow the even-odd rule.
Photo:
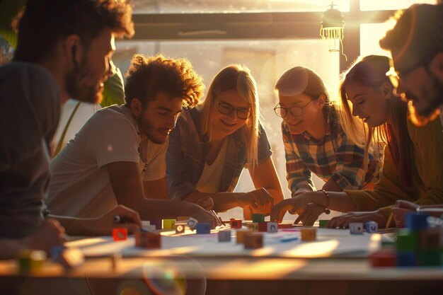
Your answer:
[[[142,180],[159,180],[166,176],[167,147],[167,142],[141,141],[129,108],[111,105],[98,110],[51,162],[50,212],[76,217],[108,212],[117,200],[105,165],[136,162]]]

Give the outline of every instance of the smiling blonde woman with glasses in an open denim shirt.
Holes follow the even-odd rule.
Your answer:
[[[283,199],[269,141],[260,124],[255,80],[245,66],[214,77],[206,99],[185,110],[169,136],[166,178],[171,197],[224,212],[270,214]],[[244,168],[255,190],[233,192]]]

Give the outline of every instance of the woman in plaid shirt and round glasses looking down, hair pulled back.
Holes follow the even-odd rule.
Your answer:
[[[311,173],[326,182],[323,190],[341,192],[373,185],[379,161],[350,140],[330,104],[321,78],[303,66],[286,71],[275,86],[283,118],[286,170],[292,197],[315,190]],[[369,156],[369,161],[365,158]],[[377,156],[376,158],[379,158]]]

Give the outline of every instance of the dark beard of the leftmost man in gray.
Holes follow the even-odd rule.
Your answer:
[[[88,69],[88,62],[83,59],[74,69],[67,74],[66,88],[67,93],[71,98],[75,100],[83,101],[86,103],[100,103],[103,99],[103,83],[91,85],[90,81],[90,69]]]

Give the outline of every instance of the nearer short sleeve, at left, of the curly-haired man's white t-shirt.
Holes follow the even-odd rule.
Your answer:
[[[115,162],[139,163],[138,137],[129,121],[112,118],[96,126],[88,144],[99,168]]]

